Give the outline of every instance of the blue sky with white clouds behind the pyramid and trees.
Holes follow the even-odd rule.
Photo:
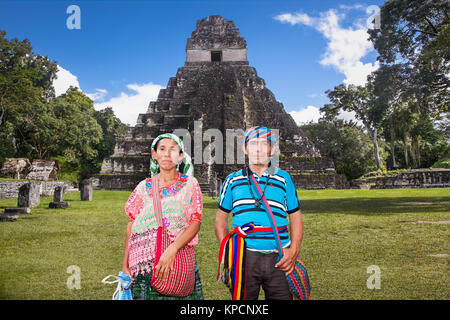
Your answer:
[[[184,65],[196,21],[221,15],[235,22],[250,65],[301,123],[317,120],[326,90],[364,84],[378,67],[366,30],[383,2],[0,0],[0,29],[58,63],[57,93],[76,85],[97,110],[111,106],[134,125]],[[66,26],[70,5],[81,10],[79,30]]]

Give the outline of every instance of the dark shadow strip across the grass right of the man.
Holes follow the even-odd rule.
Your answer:
[[[300,200],[300,208],[302,214],[391,215],[412,212],[450,212],[450,197],[308,199]]]

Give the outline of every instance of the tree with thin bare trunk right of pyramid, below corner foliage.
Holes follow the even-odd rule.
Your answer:
[[[446,145],[437,123],[433,123],[433,114],[411,93],[409,82],[403,64],[381,65],[368,77],[367,86],[373,92],[374,104],[386,109],[381,127],[383,137],[389,142],[392,169],[428,167]],[[436,152],[435,156],[430,152]]]

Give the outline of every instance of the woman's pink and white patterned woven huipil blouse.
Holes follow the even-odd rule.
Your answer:
[[[153,210],[152,178],[142,180],[133,190],[125,213],[133,222],[128,242],[128,267],[133,277],[153,268],[158,223]],[[173,241],[192,221],[202,221],[203,200],[200,185],[193,176],[178,173],[175,183],[160,188],[163,225]],[[198,235],[187,244],[198,244]]]

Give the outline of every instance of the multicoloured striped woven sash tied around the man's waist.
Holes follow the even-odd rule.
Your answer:
[[[279,227],[278,231],[284,232],[286,229],[286,226]],[[233,300],[245,299],[247,280],[245,238],[247,234],[253,232],[273,232],[273,229],[247,223],[235,227],[220,243],[217,280],[230,288]]]

